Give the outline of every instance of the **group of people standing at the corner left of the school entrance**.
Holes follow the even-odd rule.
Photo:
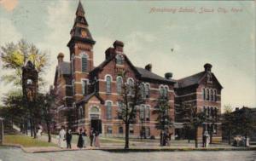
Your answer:
[[[100,133],[93,128],[90,129],[89,138],[90,138],[90,147],[100,147],[100,140],[99,140]],[[79,129],[79,140],[77,147],[84,148],[86,147],[86,129]],[[61,130],[58,135],[59,139],[59,146],[61,148],[72,148],[71,141],[72,141],[72,133],[71,129],[68,129],[67,132],[64,127],[61,127]]]

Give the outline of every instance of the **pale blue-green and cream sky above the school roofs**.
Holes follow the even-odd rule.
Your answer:
[[[25,38],[50,55],[44,74],[53,84],[56,56],[69,60],[67,43],[79,0],[0,0],[0,46]],[[205,63],[222,84],[222,106],[256,107],[255,2],[86,1],[85,17],[95,65],[115,40],[135,66],[174,79],[203,71]],[[185,12],[187,11],[187,12]],[[0,66],[2,62],[0,60]],[[8,72],[0,69],[0,76]],[[0,97],[13,85],[0,82]]]

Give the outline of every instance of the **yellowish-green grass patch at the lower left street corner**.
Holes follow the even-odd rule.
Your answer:
[[[55,144],[46,141],[38,141],[26,135],[4,135],[5,144],[19,144],[23,147],[56,147]]]

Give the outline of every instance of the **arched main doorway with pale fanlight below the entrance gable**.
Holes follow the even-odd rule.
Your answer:
[[[102,120],[100,118],[100,109],[97,106],[90,108],[90,128],[102,133]]]

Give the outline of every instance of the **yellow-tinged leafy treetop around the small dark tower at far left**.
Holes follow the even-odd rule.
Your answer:
[[[21,86],[22,66],[25,66],[27,60],[31,60],[38,73],[42,73],[48,65],[49,57],[46,52],[40,51],[34,44],[27,43],[21,39],[18,43],[6,43],[1,47],[1,59],[3,69],[9,69],[11,72],[2,76],[5,83],[14,83]],[[43,78],[39,75],[39,82],[44,84]]]

